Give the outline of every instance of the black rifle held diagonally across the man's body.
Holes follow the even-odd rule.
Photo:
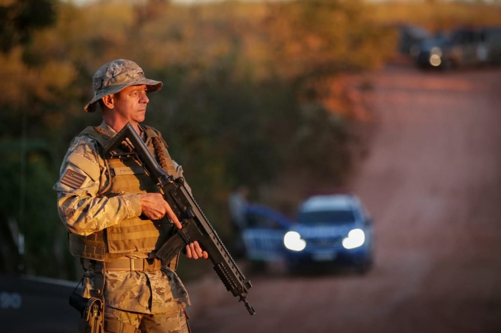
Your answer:
[[[124,141],[131,146],[132,152],[113,150]],[[169,174],[158,164],[130,122],[106,142],[104,153],[109,158],[137,157],[181,222],[182,228],[175,228],[174,234],[157,250],[156,256],[168,262],[184,249],[186,244],[197,240],[202,249],[207,251],[214,264],[214,270],[226,289],[231,291],[233,296],[239,296],[239,301],[243,301],[251,315],[256,313],[246,299],[252,284],[243,276],[216,231],[186,189],[184,178]]]

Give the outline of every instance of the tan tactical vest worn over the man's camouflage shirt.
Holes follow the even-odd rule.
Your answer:
[[[167,144],[160,133],[149,126],[141,125],[141,127],[146,132],[145,143],[153,156],[160,160],[160,165],[167,172],[178,176],[174,162],[167,151]],[[105,157],[102,147],[110,136],[105,134],[100,127],[89,126],[79,135],[87,135],[95,139],[99,145],[99,153],[103,158]],[[124,146],[123,149],[128,149],[128,147]],[[136,158],[105,158],[105,163],[109,183],[100,188],[98,196],[159,192],[156,184],[145,173],[142,163]],[[134,252],[148,253],[160,248],[172,230],[167,217],[152,221],[142,215],[133,216],[87,236],[70,233],[70,252],[75,256],[88,259],[113,261]],[[176,265],[177,256],[169,266],[175,268]]]

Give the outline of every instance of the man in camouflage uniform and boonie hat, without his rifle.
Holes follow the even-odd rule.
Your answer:
[[[161,134],[140,124],[147,93],[162,82],[147,79],[135,62],[117,59],[96,71],[93,85],[84,109],[95,111],[99,103],[103,122],[73,139],[54,186],[70,251],[86,268],[83,296],[104,298],[105,332],[189,332],[189,298],[174,271],[178,257],[161,262],[154,255],[181,224],[140,161],[103,154],[104,143],[130,122],[160,165],[182,175]],[[196,241],[186,246],[186,256],[208,257]]]

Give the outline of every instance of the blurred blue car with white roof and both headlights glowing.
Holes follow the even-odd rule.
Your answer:
[[[373,260],[372,220],[355,195],[312,196],[301,205],[284,245],[292,271],[349,263],[366,272]]]

